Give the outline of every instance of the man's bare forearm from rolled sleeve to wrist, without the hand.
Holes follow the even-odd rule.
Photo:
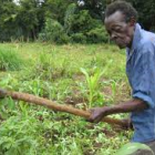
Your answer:
[[[138,112],[147,108],[148,105],[138,99],[131,100],[128,102],[117,104],[114,106],[106,106],[106,110],[103,107],[106,115],[116,114],[116,113],[128,113],[128,112]]]

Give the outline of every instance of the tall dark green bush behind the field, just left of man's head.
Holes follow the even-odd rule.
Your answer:
[[[64,30],[72,42],[101,43],[108,40],[102,21],[93,19],[89,10],[79,10],[74,3],[68,7]]]

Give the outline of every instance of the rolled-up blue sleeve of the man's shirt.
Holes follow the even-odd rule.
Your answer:
[[[155,48],[145,43],[135,62],[133,97],[143,100],[151,108],[155,106]]]

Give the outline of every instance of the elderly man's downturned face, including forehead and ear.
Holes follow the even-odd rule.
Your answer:
[[[104,20],[105,28],[111,37],[121,49],[131,48],[135,22],[125,22],[125,16],[116,11]]]

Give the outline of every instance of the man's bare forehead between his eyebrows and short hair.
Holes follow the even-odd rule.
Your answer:
[[[121,11],[116,11],[110,17],[105,18],[104,22],[123,22],[125,16]]]

